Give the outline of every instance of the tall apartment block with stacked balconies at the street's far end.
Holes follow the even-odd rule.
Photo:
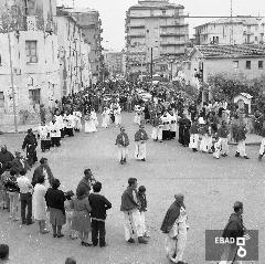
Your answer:
[[[169,0],[139,0],[126,13],[127,72],[148,72],[151,53],[178,57],[184,54],[189,25],[184,7]]]

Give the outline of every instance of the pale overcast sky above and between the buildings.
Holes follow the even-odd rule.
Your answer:
[[[72,3],[73,0],[57,0]],[[76,7],[96,9],[103,21],[103,46],[105,49],[121,50],[125,46],[125,12],[138,0],[74,0]],[[184,6],[190,15],[230,15],[231,0],[171,0]],[[233,0],[234,15],[265,17],[265,0]],[[208,22],[206,19],[188,19],[190,35],[193,28]]]

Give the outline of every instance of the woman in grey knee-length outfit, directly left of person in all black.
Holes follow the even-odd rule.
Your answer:
[[[82,245],[91,246],[92,243],[88,243],[88,235],[91,232],[89,212],[92,211],[92,208],[85,188],[78,189],[76,198],[71,201],[71,208],[74,209],[72,217],[72,230],[80,233]]]

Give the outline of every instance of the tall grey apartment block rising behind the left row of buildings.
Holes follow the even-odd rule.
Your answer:
[[[99,13],[93,9],[70,9],[68,12],[81,25],[85,41],[91,45],[89,61],[92,66],[93,82],[104,78],[104,56],[102,46],[102,20]]]

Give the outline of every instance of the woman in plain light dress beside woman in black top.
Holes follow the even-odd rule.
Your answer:
[[[38,183],[34,187],[32,197],[32,212],[33,218],[39,222],[41,234],[49,233],[46,230],[46,190],[47,188],[45,187],[45,177],[40,176],[38,178]]]

